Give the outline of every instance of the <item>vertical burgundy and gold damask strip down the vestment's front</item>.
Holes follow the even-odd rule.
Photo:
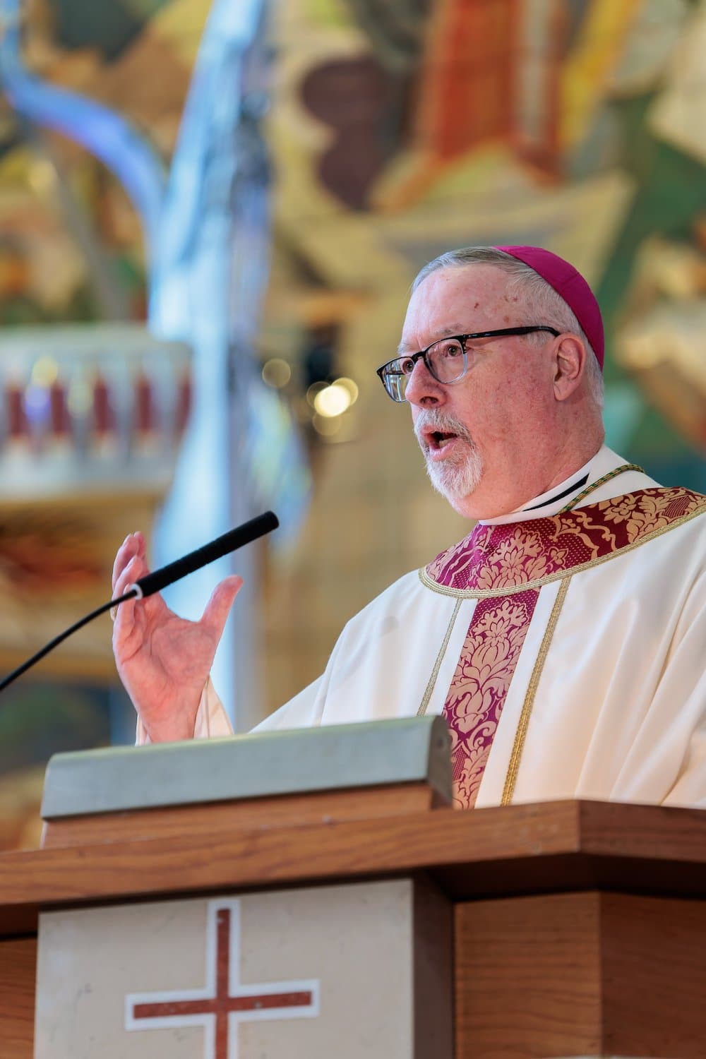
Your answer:
[[[501,711],[539,592],[481,599],[443,706],[451,733],[456,808],[475,804]]]

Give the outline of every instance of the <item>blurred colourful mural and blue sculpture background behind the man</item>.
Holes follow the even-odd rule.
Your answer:
[[[468,532],[375,376],[445,249],[598,293],[608,441],[706,490],[704,0],[0,0],[0,666],[272,506],[216,664],[239,730]],[[403,664],[403,660],[391,661]],[[108,618],[0,698],[0,846],[130,741]]]

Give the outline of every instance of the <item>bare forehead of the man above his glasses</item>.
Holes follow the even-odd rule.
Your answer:
[[[490,265],[437,269],[410,299],[402,341],[427,345],[443,334],[491,330],[519,322],[520,295],[510,276]]]

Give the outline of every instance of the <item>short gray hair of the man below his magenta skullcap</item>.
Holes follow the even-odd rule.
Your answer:
[[[548,324],[560,331],[571,331],[578,335],[585,345],[589,356],[586,357],[585,378],[589,393],[598,408],[603,407],[603,373],[600,370],[598,358],[594,353],[591,342],[586,338],[583,328],[576,319],[576,313],[569,305],[558,294],[554,287],[544,280],[539,272],[536,272],[529,265],[519,261],[504,250],[496,250],[495,247],[463,247],[460,250],[448,250],[445,254],[439,254],[433,261],[424,265],[417,273],[412,290],[415,291],[420,283],[442,268],[464,268],[467,265],[491,265],[500,269],[511,277],[511,288],[518,288],[524,299],[526,307],[531,306],[532,312],[538,313],[537,323]],[[543,333],[527,335],[526,341],[530,345],[539,345],[546,341]]]

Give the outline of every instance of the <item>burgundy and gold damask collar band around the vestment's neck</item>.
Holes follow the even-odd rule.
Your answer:
[[[476,525],[427,567],[445,588],[519,589],[619,552],[685,518],[706,511],[706,498],[683,488],[640,489],[575,511],[505,525]]]

